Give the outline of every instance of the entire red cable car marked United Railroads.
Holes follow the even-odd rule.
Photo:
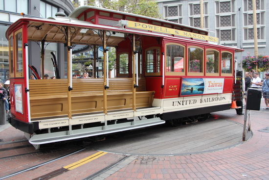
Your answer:
[[[91,6],[69,17],[19,19],[6,37],[9,122],[36,148],[165,121],[202,121],[229,109],[234,55],[243,51],[217,44],[200,28]],[[76,47],[90,47],[94,78],[72,78]]]

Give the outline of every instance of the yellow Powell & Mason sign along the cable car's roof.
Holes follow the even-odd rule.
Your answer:
[[[149,24],[145,24],[145,23],[127,21],[127,20],[120,20],[119,24],[122,26],[129,27],[129,28],[136,28],[136,29],[141,29],[141,30],[151,30],[151,31],[156,31],[156,32],[160,32],[160,33],[173,34],[173,35],[177,35],[177,36],[201,39],[201,40],[205,40],[205,41],[212,41],[212,42],[217,42],[217,43],[219,42],[219,38],[216,38],[216,37],[206,36],[206,35],[202,35],[202,34],[187,32],[187,31],[168,28],[168,27],[149,25]]]

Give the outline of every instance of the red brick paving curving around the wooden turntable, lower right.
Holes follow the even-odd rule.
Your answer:
[[[94,180],[269,180],[269,110],[251,111],[253,137],[247,142],[217,152],[180,156],[132,156],[124,167]],[[245,110],[245,109],[244,109]],[[234,109],[212,113],[244,124]],[[242,130],[243,131],[243,130]],[[119,167],[122,166],[119,164]]]

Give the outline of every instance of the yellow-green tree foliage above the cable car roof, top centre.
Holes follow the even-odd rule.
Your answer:
[[[103,8],[160,18],[156,0],[100,0]]]

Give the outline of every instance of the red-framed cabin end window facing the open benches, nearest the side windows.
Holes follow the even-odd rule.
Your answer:
[[[146,73],[160,72],[160,50],[151,49],[146,51]]]

